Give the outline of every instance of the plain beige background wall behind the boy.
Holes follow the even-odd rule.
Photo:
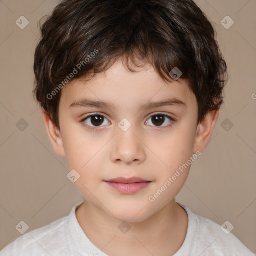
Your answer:
[[[0,1],[0,249],[21,235],[15,229],[21,220],[31,231],[68,215],[83,200],[67,179],[65,158],[54,153],[32,99],[37,22],[56,3]],[[256,1],[196,3],[214,23],[230,79],[211,141],[193,163],[177,201],[220,225],[231,222],[232,233],[255,253]],[[24,29],[15,24],[21,15],[29,21]],[[227,15],[234,21],[229,29],[220,23]],[[28,123],[23,131],[16,127],[21,118]]]

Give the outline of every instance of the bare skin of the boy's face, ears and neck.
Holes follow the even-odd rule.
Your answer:
[[[85,97],[109,101],[115,108],[69,108]],[[140,104],[172,97],[186,106],[139,108]],[[85,200],[76,210],[76,217],[90,241],[111,256],[120,255],[120,251],[124,256],[177,252],[186,236],[188,217],[175,202],[175,196],[186,181],[190,165],[153,202],[148,198],[179,166],[204,150],[219,110],[208,112],[197,125],[198,105],[186,80],[166,82],[150,65],[130,72],[118,60],[88,82],[74,79],[62,88],[60,131],[42,111],[54,151],[66,157],[69,171],[75,169],[80,175],[74,185]],[[157,126],[150,116],[158,112],[174,121],[165,116]],[[106,117],[99,127],[92,118],[81,121],[93,113]],[[131,123],[126,131],[118,127],[123,118]],[[90,126],[96,130],[89,129]],[[132,176],[152,182],[135,194],[122,194],[104,182]],[[118,228],[122,221],[131,227],[125,234]]]

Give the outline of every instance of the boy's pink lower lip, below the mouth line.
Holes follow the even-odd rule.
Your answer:
[[[127,184],[106,181],[106,183],[122,194],[134,194],[134,193],[142,190],[143,188],[147,187],[151,183],[151,181],[127,183]]]

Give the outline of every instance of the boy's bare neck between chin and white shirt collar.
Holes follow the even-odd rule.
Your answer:
[[[76,217],[88,239],[111,256],[120,251],[123,256],[173,255],[188,226],[187,213],[175,199],[141,222],[116,220],[86,200],[76,209]]]

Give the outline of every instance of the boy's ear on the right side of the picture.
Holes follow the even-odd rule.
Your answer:
[[[218,110],[212,110],[207,113],[205,118],[197,126],[193,153],[202,152],[210,141],[215,123],[219,114]]]

